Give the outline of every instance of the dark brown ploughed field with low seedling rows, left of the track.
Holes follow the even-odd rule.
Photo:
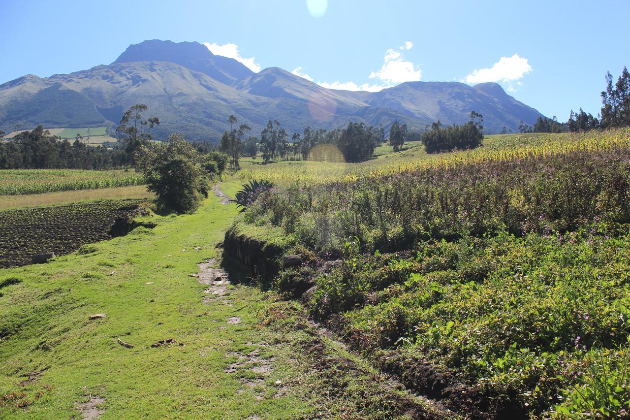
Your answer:
[[[31,264],[31,255],[64,255],[129,229],[140,201],[101,201],[0,211],[0,268]]]

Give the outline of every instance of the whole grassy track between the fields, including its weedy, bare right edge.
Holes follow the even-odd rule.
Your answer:
[[[0,270],[0,417],[81,417],[77,408],[91,396],[105,399],[103,419],[423,410],[425,402],[384,389],[374,370],[273,295],[244,285],[204,293],[208,286],[188,274],[219,257],[215,244],[236,214],[234,204],[210,197],[192,215],[146,216],[152,230]],[[96,313],[106,315],[88,319]]]

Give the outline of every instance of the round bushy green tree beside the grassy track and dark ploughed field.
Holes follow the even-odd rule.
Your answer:
[[[163,143],[140,146],[139,165],[147,189],[157,195],[157,205],[181,213],[192,213],[202,195],[208,195],[208,181],[200,161],[203,157],[183,136],[173,134]]]

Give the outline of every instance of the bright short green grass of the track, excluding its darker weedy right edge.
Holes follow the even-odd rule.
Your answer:
[[[0,417],[77,416],[75,406],[88,394],[106,398],[110,418],[204,412],[290,416],[303,410],[304,403],[289,397],[258,402],[249,390],[238,394],[238,375],[224,371],[234,361],[230,354],[264,344],[264,335],[252,327],[251,306],[260,293],[238,286],[229,296],[231,305],[202,303],[204,286],[188,277],[198,271],[198,262],[217,257],[214,244],[234,214],[235,206],[212,198],[192,216],[148,217],[158,223],[154,230],[99,243],[93,254],[0,271],[3,278],[22,280],[4,288],[0,298],[2,329],[9,331],[0,344],[0,394],[18,390],[21,373],[47,366],[27,394],[54,386],[28,410],[0,409]],[[106,317],[89,321],[94,313]],[[234,315],[243,322],[227,324]],[[117,344],[118,337],[134,349]],[[167,338],[184,345],[149,347]],[[263,356],[278,355],[263,350]],[[290,363],[280,366],[260,390],[273,394],[275,380],[291,370]]]

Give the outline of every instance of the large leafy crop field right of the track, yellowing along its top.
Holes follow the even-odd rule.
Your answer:
[[[301,255],[267,287],[315,286],[312,317],[459,414],[623,416],[630,131],[489,140],[329,183],[308,182],[317,163],[253,165],[279,186],[232,232]]]

